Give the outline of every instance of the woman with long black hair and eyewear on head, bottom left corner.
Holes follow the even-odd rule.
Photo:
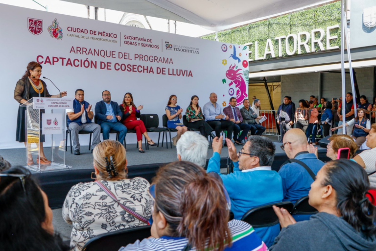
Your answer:
[[[69,251],[54,233],[45,192],[23,167],[0,173],[0,250]]]

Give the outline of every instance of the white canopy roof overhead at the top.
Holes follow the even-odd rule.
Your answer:
[[[65,0],[223,30],[330,0]]]

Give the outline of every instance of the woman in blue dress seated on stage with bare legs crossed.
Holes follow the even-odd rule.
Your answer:
[[[168,99],[167,106],[164,108],[168,118],[167,127],[178,130],[177,135],[172,138],[172,144],[174,144],[174,146],[176,146],[176,142],[180,139],[180,136],[188,131],[187,126],[184,126],[183,123],[180,122],[183,108],[180,108],[180,106],[176,104],[177,102],[178,99],[176,95],[171,95]]]

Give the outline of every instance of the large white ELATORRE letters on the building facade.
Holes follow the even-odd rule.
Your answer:
[[[328,26],[327,30],[323,29],[312,29],[311,32],[299,32],[298,34],[288,34],[287,36],[280,36],[274,38],[275,40],[278,40],[278,57],[282,57],[282,46],[286,47],[286,54],[291,56],[294,54],[302,54],[302,47],[304,46],[306,53],[310,52],[316,52],[315,45],[317,44],[319,46],[319,49],[317,51],[325,51],[325,50],[334,50],[339,49],[338,46],[330,46],[330,40],[337,39],[337,35],[330,35],[331,30],[333,29],[339,29],[339,25],[332,25]],[[320,36],[316,35],[320,34]],[[325,34],[327,35],[326,41],[323,41]],[[303,40],[303,35],[305,35],[305,39]],[[293,41],[293,46],[290,46],[289,41]],[[311,48],[308,46],[308,42],[311,41]],[[326,48],[324,48],[324,44],[326,42]],[[274,47],[272,43],[272,39],[268,38],[266,41],[266,46],[264,49],[264,56],[260,57],[258,51],[260,48],[258,47],[258,41],[255,41],[255,44],[247,43],[245,44],[251,48],[252,45],[255,46],[255,60],[265,60],[267,55],[271,55],[272,58],[276,58],[276,53],[274,52]],[[250,50],[248,52],[250,55],[252,54],[252,51]],[[253,61],[253,59],[249,59],[248,61]]]

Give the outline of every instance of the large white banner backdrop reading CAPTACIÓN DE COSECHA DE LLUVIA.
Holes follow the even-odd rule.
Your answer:
[[[159,115],[161,127],[172,94],[184,110],[193,95],[199,97],[201,107],[211,92],[218,95],[218,104],[223,107],[229,105],[231,97],[237,97],[240,107],[247,98],[248,48],[242,45],[5,4],[0,4],[0,21],[0,149],[24,147],[15,141],[19,104],[13,93],[30,61],[42,64],[42,77],[67,91],[66,98],[73,99],[74,91],[83,89],[93,110],[104,90],[119,104],[126,92],[132,93],[134,103],[143,105],[141,113]],[[47,79],[43,80],[51,95],[58,94]],[[158,135],[150,136],[157,139]],[[136,143],[135,134],[127,134],[126,139]],[[88,141],[88,137],[80,138],[81,145]]]

